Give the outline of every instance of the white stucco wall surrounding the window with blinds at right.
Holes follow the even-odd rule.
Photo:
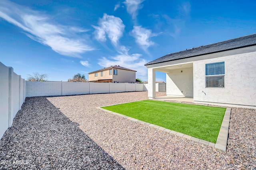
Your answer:
[[[225,87],[206,88],[205,64],[222,61]],[[193,68],[195,102],[256,106],[256,52],[194,61]]]

